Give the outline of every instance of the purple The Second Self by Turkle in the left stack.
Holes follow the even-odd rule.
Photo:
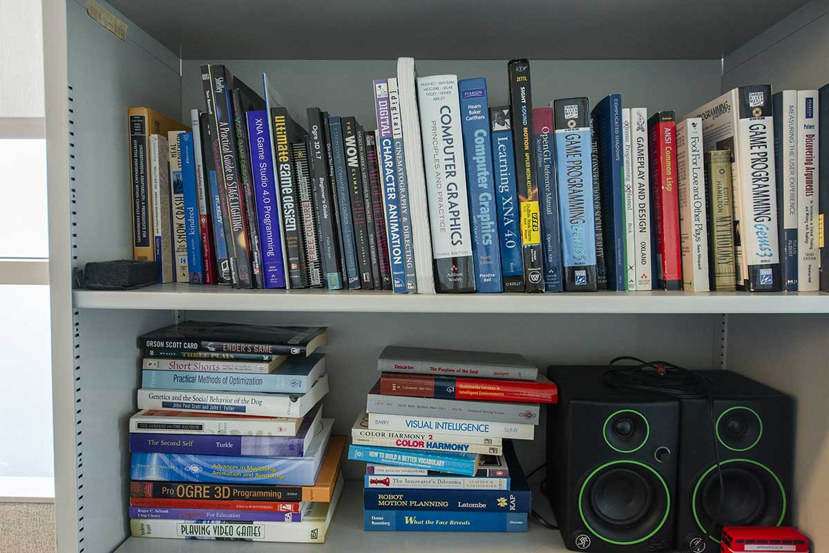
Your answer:
[[[302,457],[302,438],[199,434],[129,434],[131,453]]]

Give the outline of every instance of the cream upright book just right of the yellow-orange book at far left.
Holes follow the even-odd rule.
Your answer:
[[[170,150],[167,138],[150,135],[150,194],[153,196],[153,249],[158,263],[158,282],[176,280],[172,266],[172,226],[170,223]]]

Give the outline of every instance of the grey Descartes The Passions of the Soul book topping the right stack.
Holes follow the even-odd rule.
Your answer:
[[[538,368],[517,353],[463,352],[429,347],[386,346],[377,370],[534,381]]]

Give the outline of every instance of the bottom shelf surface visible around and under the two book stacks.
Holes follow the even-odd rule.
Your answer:
[[[531,517],[530,517],[531,518]],[[282,544],[261,541],[165,540],[131,537],[115,553],[308,553],[336,551],[351,553],[480,553],[521,551],[521,553],[564,553],[558,531],[545,529],[530,520],[529,531],[487,532],[393,532],[363,531],[362,483],[346,483],[324,544]]]

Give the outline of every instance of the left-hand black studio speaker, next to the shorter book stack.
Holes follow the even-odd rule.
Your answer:
[[[547,480],[573,551],[671,549],[680,403],[604,385],[607,366],[550,367],[559,403],[547,424]]]

